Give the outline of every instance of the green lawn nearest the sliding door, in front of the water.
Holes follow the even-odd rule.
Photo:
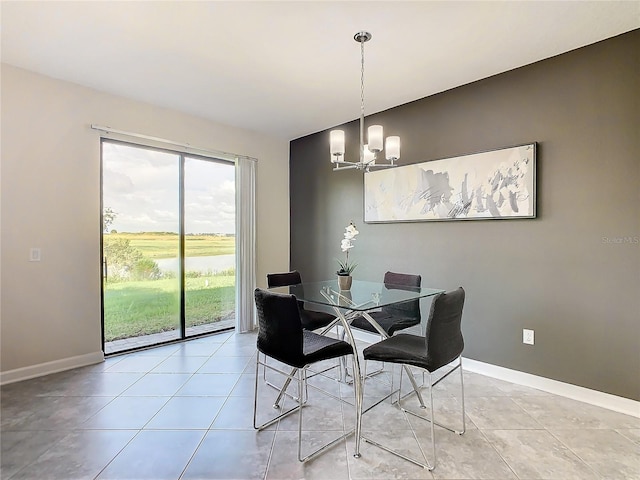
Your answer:
[[[105,341],[179,327],[177,279],[107,283],[104,290]],[[185,281],[187,327],[218,322],[235,311],[235,275]]]

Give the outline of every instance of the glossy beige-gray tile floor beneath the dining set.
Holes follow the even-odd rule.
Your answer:
[[[254,353],[255,334],[223,333],[5,385],[0,478],[640,479],[639,418],[469,372],[467,431],[436,428],[432,472],[367,443],[353,458],[353,437],[301,464],[297,417],[252,428]],[[367,381],[365,403],[387,391],[388,378]],[[322,383],[352,395],[348,385]],[[436,415],[460,420],[459,385],[444,383],[435,389]],[[261,398],[273,396],[262,388],[269,392]],[[352,407],[314,392],[304,409],[305,446],[354,422]],[[272,411],[267,402],[259,409]],[[399,415],[382,403],[365,415],[363,429],[411,452],[416,444]],[[428,424],[412,425],[426,449]]]

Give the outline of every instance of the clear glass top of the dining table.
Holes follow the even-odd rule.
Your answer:
[[[438,288],[407,287],[404,285],[389,285],[382,282],[367,282],[353,280],[350,290],[340,290],[338,281],[305,282],[288,287],[271,288],[278,293],[290,293],[298,300],[342,307],[355,311],[366,311],[394,303],[416,300],[443,293]]]

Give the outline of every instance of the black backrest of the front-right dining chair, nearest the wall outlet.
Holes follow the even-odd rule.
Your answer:
[[[441,293],[431,303],[426,328],[427,360],[435,371],[462,354],[462,308],[465,292],[462,287]]]

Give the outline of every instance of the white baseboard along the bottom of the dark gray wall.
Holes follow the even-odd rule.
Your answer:
[[[372,333],[356,331],[354,329],[354,337],[356,340],[374,343],[379,341],[379,337]],[[462,358],[462,366],[469,372],[480,373],[487,377],[505,380],[526,387],[537,388],[543,392],[553,393],[562,397],[571,398],[580,402],[585,402],[597,407],[607,408],[614,412],[624,413],[633,417],[640,418],[640,402],[630,400],[628,398],[611,395],[609,393],[591,390],[589,388],[579,387],[570,383],[559,382],[550,378],[539,377],[530,373],[511,370],[509,368],[491,365],[490,363],[479,362],[470,358]]]

